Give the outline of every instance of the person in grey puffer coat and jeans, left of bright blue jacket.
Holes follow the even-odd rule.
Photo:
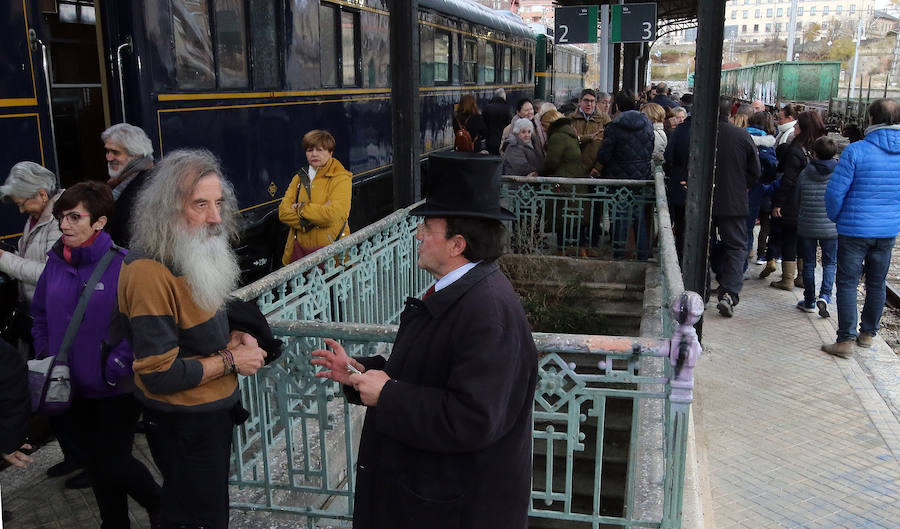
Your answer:
[[[837,228],[825,211],[825,188],[837,161],[834,140],[828,136],[813,145],[813,159],[797,177],[797,249],[803,259],[803,300],[797,308],[828,317],[831,289],[837,268]],[[816,249],[822,248],[822,285],[816,297]]]

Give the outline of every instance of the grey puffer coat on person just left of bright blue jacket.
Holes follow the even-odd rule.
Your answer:
[[[807,239],[836,239],[837,227],[825,212],[825,189],[835,160],[810,160],[797,177],[797,235]]]

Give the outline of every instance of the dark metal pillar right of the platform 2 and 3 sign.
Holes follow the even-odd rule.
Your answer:
[[[687,180],[684,235],[684,288],[704,292],[709,254],[709,222],[719,124],[719,85],[725,2],[700,0],[697,7],[697,59],[694,107],[691,115],[690,165]],[[702,333],[703,320],[697,324]],[[702,334],[701,334],[702,335]]]

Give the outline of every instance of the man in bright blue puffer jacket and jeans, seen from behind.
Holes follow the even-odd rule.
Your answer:
[[[853,355],[853,339],[870,347],[884,310],[884,282],[900,230],[900,103],[869,105],[872,125],[844,149],[825,191],[828,218],[838,231],[837,342],[828,354]],[[865,263],[865,266],[863,266]],[[865,269],[866,302],[856,330],[856,286]]]

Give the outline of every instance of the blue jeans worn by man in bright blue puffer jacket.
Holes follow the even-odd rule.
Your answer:
[[[866,272],[866,302],[859,331],[875,334],[884,310],[884,280],[896,237],[883,239],[838,236],[837,307],[839,342],[853,340],[856,331],[856,286]]]

